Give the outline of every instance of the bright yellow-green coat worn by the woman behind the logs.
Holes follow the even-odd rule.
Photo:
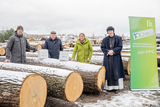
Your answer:
[[[85,42],[82,44],[78,39],[76,45],[74,46],[72,58],[75,59],[75,56],[77,54],[77,62],[90,63],[87,60],[88,58],[92,58],[92,53],[93,48],[91,42],[87,38],[85,38]]]

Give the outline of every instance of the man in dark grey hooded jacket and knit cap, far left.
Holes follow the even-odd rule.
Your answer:
[[[23,27],[18,26],[15,34],[8,40],[5,62],[26,63],[26,49],[37,51],[30,47],[27,39],[23,36]]]

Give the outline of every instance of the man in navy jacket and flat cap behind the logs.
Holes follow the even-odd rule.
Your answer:
[[[45,41],[44,49],[48,49],[49,57],[59,59],[60,51],[63,51],[62,42],[56,36],[56,32],[52,31],[50,38]]]

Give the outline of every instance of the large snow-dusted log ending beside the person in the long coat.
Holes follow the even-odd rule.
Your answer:
[[[57,67],[76,71],[81,74],[84,82],[84,92],[96,93],[102,91],[105,83],[105,67],[100,65],[86,64],[73,61],[59,61],[57,59],[41,59],[28,57],[28,64],[47,67]]]

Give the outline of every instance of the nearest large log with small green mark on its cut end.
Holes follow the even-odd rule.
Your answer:
[[[47,84],[42,76],[0,70],[1,107],[44,107],[46,97]]]

